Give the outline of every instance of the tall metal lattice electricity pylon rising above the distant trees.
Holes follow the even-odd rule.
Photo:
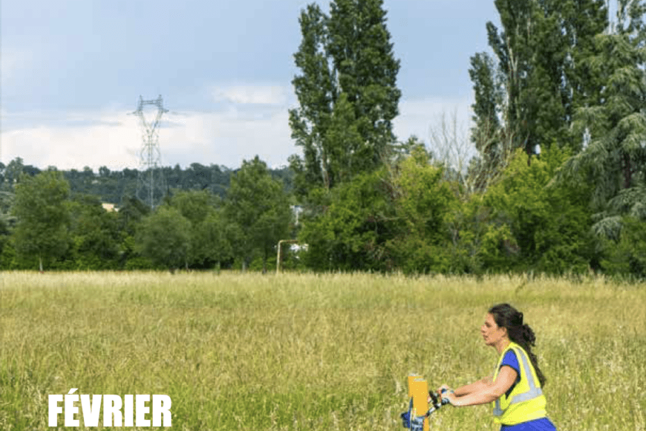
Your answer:
[[[144,117],[144,106],[157,107],[154,121],[148,122]],[[139,107],[133,112],[137,115],[143,128],[143,145],[139,154],[139,181],[137,184],[137,197],[154,208],[161,202],[166,190],[166,181],[161,169],[161,151],[159,149],[159,124],[164,113],[161,95],[155,100],[144,100],[139,97]]]

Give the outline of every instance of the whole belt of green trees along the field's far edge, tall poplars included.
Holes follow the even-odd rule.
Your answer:
[[[99,212],[96,198],[79,194],[64,205],[68,221],[47,230],[19,211],[20,190],[40,177],[69,180],[51,170],[24,177],[3,205],[15,225],[4,229],[0,265],[67,250],[74,259],[48,259],[79,267],[97,255],[86,250],[118,250],[83,265],[267,268],[276,242],[297,238],[307,250],[291,263],[309,270],[646,277],[645,1],[615,0],[615,14],[606,0],[494,3],[500,26],[484,25],[489,50],[470,58],[467,138],[450,124],[429,143],[394,135],[400,62],[382,0],[332,0],[328,11],[312,3],[299,15],[289,111],[301,154],[281,179],[256,158],[228,185],[204,186],[199,179],[227,172],[211,166],[200,177],[191,165],[152,211],[127,197],[118,213]],[[81,184],[97,181],[87,177]],[[290,204],[303,209],[298,224]],[[92,230],[92,217],[119,228]],[[38,250],[33,232],[48,238]],[[63,232],[67,242],[54,246]]]

